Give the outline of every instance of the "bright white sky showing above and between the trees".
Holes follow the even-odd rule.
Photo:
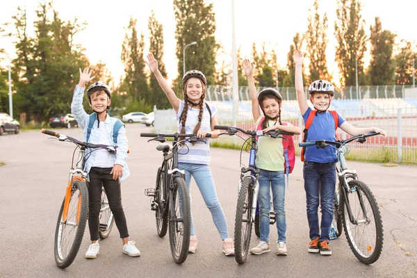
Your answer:
[[[231,53],[231,0],[208,0],[213,3],[217,31],[215,37]],[[116,2],[55,0],[54,9],[58,10],[63,20],[74,20],[79,17],[81,22],[88,22],[87,28],[76,35],[76,42],[85,47],[85,54],[91,63],[102,60],[112,72],[116,83],[123,74],[124,66],[120,60],[124,28],[129,24],[129,17],[138,20],[138,32],[145,35],[145,54],[149,46],[147,22],[154,10],[156,19],[163,24],[165,40],[164,63],[168,78],[177,76],[177,58],[175,56],[175,21],[172,0]],[[277,1],[277,0],[235,0],[236,44],[242,53],[250,58],[252,42],[261,44],[268,42],[271,49],[276,49],[280,67],[286,67],[286,55],[293,42],[296,32],[304,33],[307,28],[308,10],[313,9],[314,0]],[[334,62],[336,40],[334,39],[334,21],[336,19],[336,0],[321,0],[320,12],[327,13],[328,35],[327,63],[329,71],[337,74]],[[375,23],[375,16],[381,18],[382,28],[398,35],[398,40],[417,40],[414,24],[417,1],[396,0],[395,2],[379,0],[361,0],[362,17],[366,20],[366,32],[369,35],[370,25]],[[33,32],[32,22],[35,20],[35,9],[38,1],[13,0],[1,3],[0,23],[11,21],[16,14],[17,6],[27,9],[29,31]],[[194,46],[189,47],[188,49]],[[0,48],[5,48],[10,57],[15,56],[13,43],[8,38],[1,38]],[[259,48],[260,49],[260,48]],[[190,55],[190,52],[188,52]]]

